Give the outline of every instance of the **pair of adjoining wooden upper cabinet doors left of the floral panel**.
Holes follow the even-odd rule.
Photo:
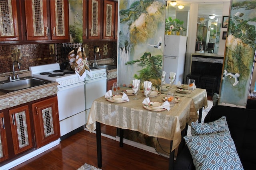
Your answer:
[[[25,0],[25,13],[28,41],[69,41],[67,0]]]

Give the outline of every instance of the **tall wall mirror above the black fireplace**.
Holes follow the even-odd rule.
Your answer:
[[[223,4],[199,4],[195,51],[218,53]],[[210,13],[209,13],[210,11]]]

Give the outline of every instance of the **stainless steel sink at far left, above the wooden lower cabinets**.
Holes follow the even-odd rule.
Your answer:
[[[51,81],[34,78],[34,77],[24,77],[24,78],[20,78],[20,80],[16,80],[13,82],[8,82],[8,81],[1,82],[0,90],[5,93],[10,93],[10,92],[16,92],[18,90],[40,86],[43,84],[48,84],[50,82]]]

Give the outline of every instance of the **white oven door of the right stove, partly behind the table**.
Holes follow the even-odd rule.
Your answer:
[[[104,96],[107,92],[107,78],[101,77],[85,81],[85,102],[86,110],[90,109],[92,102]],[[87,115],[86,115],[87,116]]]

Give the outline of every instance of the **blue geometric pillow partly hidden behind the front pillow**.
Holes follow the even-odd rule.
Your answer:
[[[220,132],[229,132],[228,123],[226,121],[226,116],[220,117],[216,121],[209,123],[191,123],[191,134],[195,135],[209,135]]]

